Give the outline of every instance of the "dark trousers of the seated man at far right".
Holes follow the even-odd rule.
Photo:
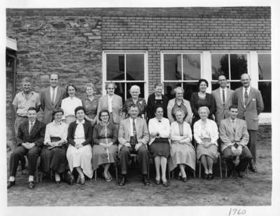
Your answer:
[[[246,167],[248,166],[248,162],[252,159],[252,154],[250,150],[246,147],[242,147],[242,152],[239,156],[239,164],[235,167],[235,164],[233,164],[233,160],[236,159],[235,154],[232,153],[231,147],[227,147],[225,150],[223,150],[223,157],[225,158],[225,161],[227,162],[228,169],[232,171],[234,168],[236,171],[242,171],[244,172]]]

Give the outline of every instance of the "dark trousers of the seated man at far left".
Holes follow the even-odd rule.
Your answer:
[[[18,169],[18,162],[23,161],[25,159],[25,155],[27,155],[28,159],[28,174],[34,175],[37,166],[37,159],[41,153],[41,147],[34,145],[31,149],[27,150],[22,145],[18,146],[11,154],[10,154],[10,175],[15,176]]]

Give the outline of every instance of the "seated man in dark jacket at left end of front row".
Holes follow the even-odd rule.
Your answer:
[[[27,110],[28,121],[20,124],[18,128],[17,145],[18,147],[10,154],[10,179],[8,188],[15,185],[15,173],[18,169],[18,162],[22,161],[27,155],[29,169],[29,189],[35,187],[34,173],[36,171],[37,159],[41,153],[45,136],[45,124],[39,122],[36,108],[30,107]]]

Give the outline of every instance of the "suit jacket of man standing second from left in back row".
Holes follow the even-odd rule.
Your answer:
[[[61,101],[65,97],[65,90],[62,87],[57,87],[57,96],[55,97],[55,104],[52,106],[50,101],[50,87],[43,89],[41,93],[41,108],[43,112],[43,122],[48,124],[52,121],[53,110],[61,107]]]

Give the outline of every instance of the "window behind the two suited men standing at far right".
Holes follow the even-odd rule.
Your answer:
[[[211,53],[212,90],[217,89],[218,76],[225,75],[230,89],[241,87],[240,76],[247,73],[246,53]]]

